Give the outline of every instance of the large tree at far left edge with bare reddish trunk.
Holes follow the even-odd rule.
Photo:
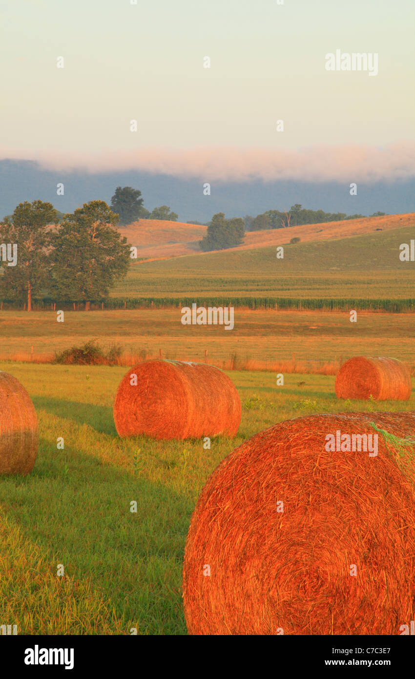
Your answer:
[[[57,212],[52,203],[34,200],[19,203],[11,217],[0,225],[1,242],[17,246],[16,265],[3,264],[1,290],[15,299],[32,298],[47,284],[52,269],[51,246]]]

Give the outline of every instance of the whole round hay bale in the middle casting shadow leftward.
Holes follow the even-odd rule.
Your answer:
[[[229,377],[212,365],[144,361],[121,380],[114,420],[120,436],[235,436],[241,401]]]

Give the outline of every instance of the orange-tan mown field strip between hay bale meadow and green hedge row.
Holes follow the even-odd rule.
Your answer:
[[[252,369],[277,369],[281,362],[319,367],[340,358],[391,356],[415,366],[413,314],[298,312],[235,309],[235,327],[182,325],[180,308],[130,311],[0,312],[0,359],[49,360],[54,352],[96,338],[104,347],[120,345],[127,365],[146,357],[205,360],[229,368],[250,362]],[[33,354],[31,348],[33,347]],[[295,365],[293,366],[295,369]],[[287,365],[283,370],[290,369]],[[297,371],[307,371],[298,365]]]

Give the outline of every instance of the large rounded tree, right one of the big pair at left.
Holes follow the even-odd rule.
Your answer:
[[[118,215],[103,200],[92,200],[66,215],[54,236],[52,293],[60,299],[104,299],[130,265],[130,244],[115,229]]]

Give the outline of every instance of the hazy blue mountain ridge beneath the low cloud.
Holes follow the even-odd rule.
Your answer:
[[[182,179],[149,172],[117,170],[88,172],[44,168],[33,160],[0,160],[0,219],[13,212],[23,200],[47,200],[61,212],[72,212],[83,202],[111,201],[117,186],[142,191],[144,206],[152,210],[168,205],[185,221],[209,221],[224,212],[226,217],[256,215],[265,210],[288,210],[300,203],[313,210],[370,215],[409,213],[415,210],[415,179],[359,183],[357,196],[350,196],[347,183],[305,181],[210,181],[210,196],[203,195],[203,181]],[[353,182],[353,177],[350,179]],[[64,183],[64,196],[56,195],[56,185]]]

